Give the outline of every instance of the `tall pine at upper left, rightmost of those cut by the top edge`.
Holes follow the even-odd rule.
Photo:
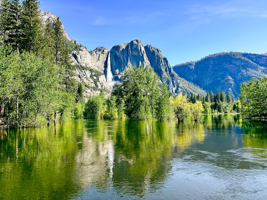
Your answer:
[[[21,10],[21,41],[19,47],[27,52],[38,52],[42,35],[42,19],[40,18],[40,1],[24,0]]]

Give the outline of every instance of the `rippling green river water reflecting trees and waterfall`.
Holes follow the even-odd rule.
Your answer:
[[[238,115],[0,131],[0,199],[267,199],[267,126]]]

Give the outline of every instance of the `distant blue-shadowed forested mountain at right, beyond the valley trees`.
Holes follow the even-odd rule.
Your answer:
[[[267,56],[260,54],[227,52],[209,55],[196,62],[173,67],[182,78],[205,90],[229,91],[238,96],[240,83],[251,78],[267,76]]]

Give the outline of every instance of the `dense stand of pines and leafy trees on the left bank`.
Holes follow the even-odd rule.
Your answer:
[[[43,27],[39,5],[36,0],[6,0],[0,6],[0,123],[4,127],[70,121],[74,106],[76,116],[82,117],[83,88],[77,89],[73,79],[62,23],[57,18]]]

